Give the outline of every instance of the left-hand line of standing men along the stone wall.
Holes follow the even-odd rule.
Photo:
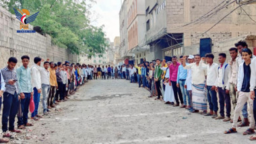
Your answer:
[[[1,69],[0,85],[0,108],[3,98],[2,135],[0,143],[7,143],[19,129],[32,127],[28,122],[28,112],[31,120],[39,120],[42,115],[48,115],[51,108],[67,101],[70,95],[75,94],[80,85],[84,85],[88,75],[93,69],[90,65],[54,63],[34,58],[32,67],[28,67],[30,57],[21,57],[22,66],[15,69],[18,59],[10,57],[7,66]],[[41,67],[41,63],[42,67]],[[38,112],[38,106],[42,96],[42,114]],[[15,116],[18,117],[18,129],[15,129]],[[9,127],[8,127],[9,122]]]

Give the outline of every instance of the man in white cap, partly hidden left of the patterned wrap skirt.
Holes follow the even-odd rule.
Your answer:
[[[195,57],[193,55],[189,55],[189,57],[187,58],[188,63],[194,63],[195,61]],[[183,60],[184,61],[184,60]],[[191,106],[187,106],[186,109],[189,109],[189,111],[193,111],[193,102],[192,102],[192,75],[191,75],[192,71],[191,69],[187,69],[187,78],[185,81],[185,85],[184,87],[187,89],[187,91],[189,92],[189,97],[190,97],[190,104]]]

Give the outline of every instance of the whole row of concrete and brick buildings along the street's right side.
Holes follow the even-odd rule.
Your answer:
[[[223,0],[128,0],[125,4],[128,53],[135,55],[137,63],[143,58],[150,61],[202,54],[203,50],[216,52],[217,47],[219,52],[221,41],[241,36],[248,40],[248,35],[256,34],[256,4],[247,0],[239,4]]]

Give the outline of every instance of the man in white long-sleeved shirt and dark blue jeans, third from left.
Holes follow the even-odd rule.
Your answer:
[[[42,116],[38,115],[38,106],[40,102],[40,93],[42,92],[42,83],[41,83],[41,75],[40,75],[40,65],[41,58],[34,58],[34,65],[31,67],[31,75],[32,75],[32,87],[34,89],[34,112],[31,114],[31,119],[38,120],[38,118],[42,118]]]

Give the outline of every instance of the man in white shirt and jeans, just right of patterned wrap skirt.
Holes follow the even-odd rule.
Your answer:
[[[218,67],[217,63],[214,63],[214,55],[208,53],[205,55],[206,62],[208,63],[207,67],[207,100],[210,107],[210,113],[205,114],[204,116],[212,116],[212,118],[216,118],[218,116],[218,100],[217,93],[215,91],[216,86],[215,82],[218,77]],[[202,59],[205,61],[205,59]],[[202,61],[201,61],[202,62]],[[200,65],[201,65],[200,62]]]

